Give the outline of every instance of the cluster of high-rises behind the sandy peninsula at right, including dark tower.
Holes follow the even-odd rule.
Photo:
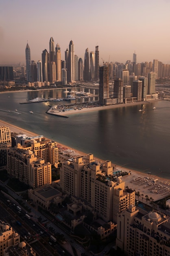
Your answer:
[[[136,61],[136,54],[133,54],[132,63],[131,61],[126,61],[125,65],[120,63],[103,63],[103,66],[99,67],[100,105],[158,99],[158,94],[155,93],[158,60],[154,60],[153,65],[150,64],[150,67],[149,65],[142,65],[142,69],[141,64],[135,63]],[[113,95],[110,97],[109,80],[113,79],[113,77]]]

